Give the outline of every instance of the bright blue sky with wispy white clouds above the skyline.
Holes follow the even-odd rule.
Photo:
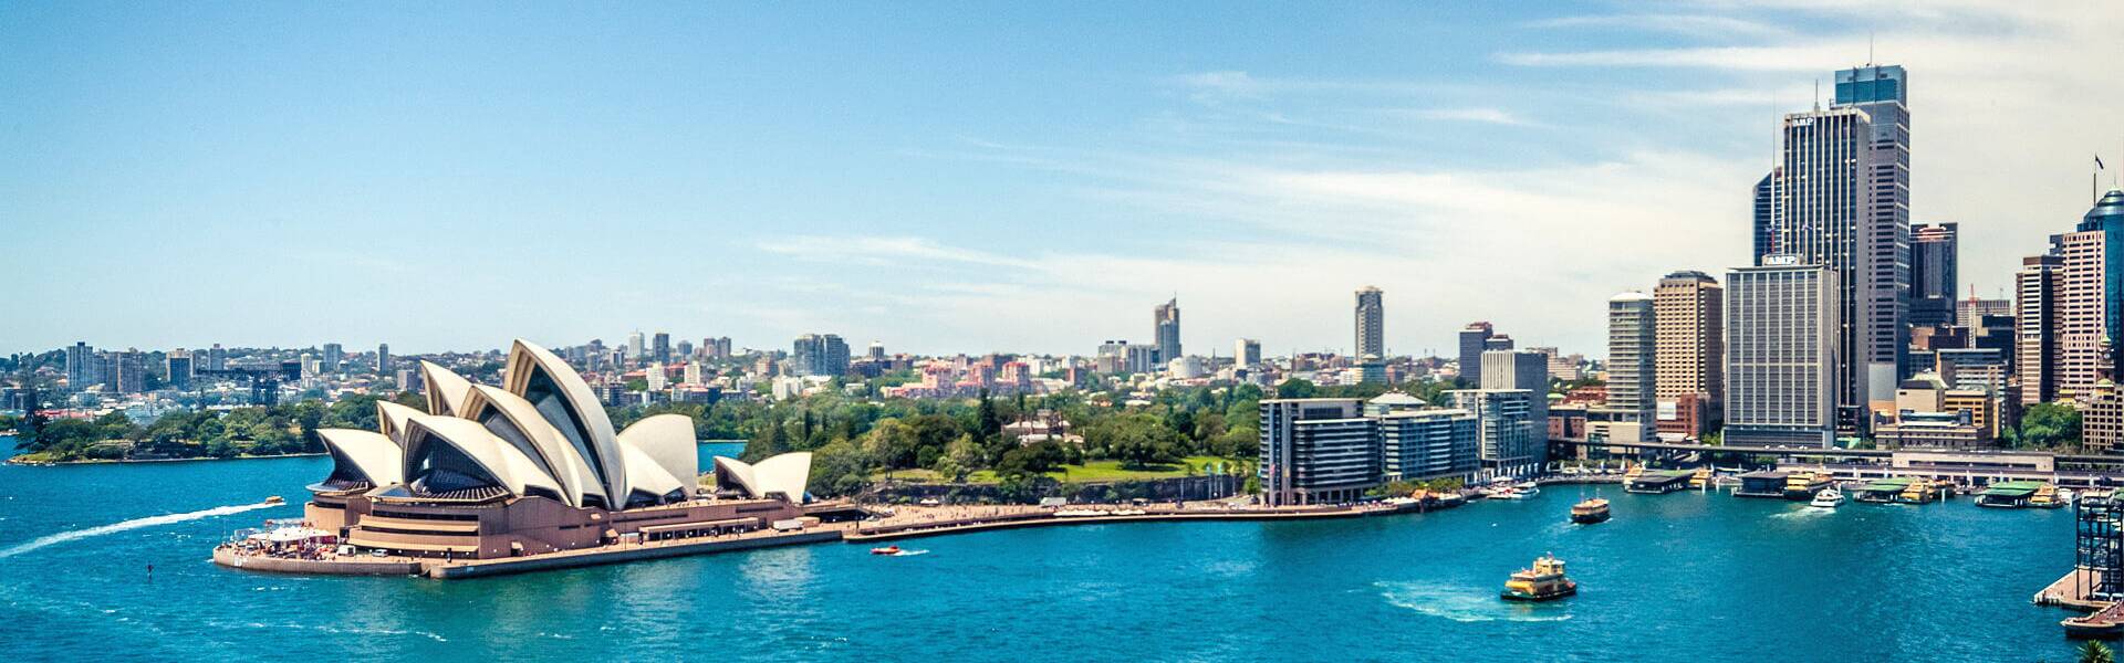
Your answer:
[[[1903,64],[1960,274],[2124,168],[2120,2],[0,4],[0,353],[1393,353],[1748,261],[1782,113]],[[2113,157],[2109,157],[2113,155]],[[2109,174],[2103,174],[2107,187]]]

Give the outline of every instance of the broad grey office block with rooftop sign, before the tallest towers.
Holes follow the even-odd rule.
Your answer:
[[[1727,274],[1725,444],[1835,442],[1835,280],[1791,257]]]

